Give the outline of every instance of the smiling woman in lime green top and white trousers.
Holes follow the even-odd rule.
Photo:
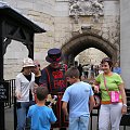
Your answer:
[[[99,92],[100,89],[102,95],[99,130],[108,130],[109,123],[110,130],[119,130],[121,116],[127,113],[123,81],[118,74],[112,72],[113,63],[109,57],[103,58],[101,64],[103,74],[100,74],[94,82],[94,90]],[[112,102],[110,92],[118,93],[119,96],[116,96],[118,101]]]

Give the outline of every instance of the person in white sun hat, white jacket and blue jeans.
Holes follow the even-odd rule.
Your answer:
[[[29,57],[24,58],[23,69],[16,76],[15,95],[16,95],[16,113],[17,113],[17,128],[16,130],[24,130],[26,126],[26,113],[28,107],[35,104],[32,90],[35,86],[35,74],[31,73],[34,61]]]

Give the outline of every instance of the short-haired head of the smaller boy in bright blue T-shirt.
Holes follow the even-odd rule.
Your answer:
[[[46,100],[48,94],[49,94],[49,91],[48,91],[48,88],[46,87],[38,87],[36,89],[36,95],[39,101]]]

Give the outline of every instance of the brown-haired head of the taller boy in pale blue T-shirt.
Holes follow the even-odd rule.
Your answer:
[[[77,67],[72,66],[67,69],[65,76],[69,83],[74,83],[75,81],[77,81],[77,79],[79,79],[79,70]]]

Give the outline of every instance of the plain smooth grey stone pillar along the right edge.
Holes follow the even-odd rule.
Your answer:
[[[125,87],[130,89],[130,0],[120,0],[120,66]]]

